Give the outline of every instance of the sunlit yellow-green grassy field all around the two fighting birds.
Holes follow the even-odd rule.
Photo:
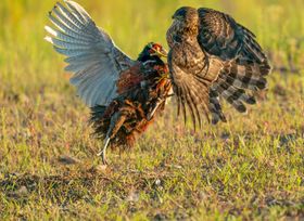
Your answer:
[[[1,220],[304,219],[303,0],[81,0],[132,57],[166,46],[180,5],[226,11],[252,29],[274,65],[248,115],[194,132],[174,102],[127,153],[96,156],[89,110],[63,57],[43,41],[54,0],[0,3]]]

